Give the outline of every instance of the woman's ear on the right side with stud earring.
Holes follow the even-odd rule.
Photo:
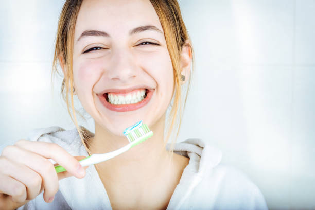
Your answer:
[[[190,65],[191,61],[193,60],[193,54],[191,52],[190,43],[186,40],[185,44],[183,45],[182,52],[181,52],[181,75],[185,76],[185,80],[181,82],[181,84],[186,83],[190,76]]]

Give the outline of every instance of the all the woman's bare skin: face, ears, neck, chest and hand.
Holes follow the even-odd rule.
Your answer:
[[[141,11],[141,12],[139,12]],[[145,25],[155,30],[129,34]],[[85,30],[106,31],[110,37],[87,36],[77,41]],[[104,153],[125,146],[122,131],[143,120],[154,135],[131,150],[96,165],[113,209],[165,209],[179,183],[189,159],[163,147],[166,109],[173,94],[173,69],[164,31],[150,1],[83,1],[75,26],[73,54],[74,86],[84,109],[95,121],[95,136],[90,139],[91,153]],[[159,45],[139,45],[152,42]],[[187,44],[189,44],[187,42]],[[91,47],[101,47],[83,54]],[[59,57],[61,68],[62,57]],[[191,63],[190,47],[181,52],[181,73],[186,81]],[[184,83],[184,82],[182,82]],[[147,85],[154,89],[146,106],[130,112],[105,108],[97,93],[104,89]],[[67,170],[56,173],[55,160]],[[0,209],[15,209],[36,198],[44,190],[44,200],[53,201],[58,180],[83,178],[87,167],[63,148],[53,143],[21,139],[7,146],[0,156]],[[57,164],[56,164],[57,165]],[[81,172],[81,173],[79,173]]]

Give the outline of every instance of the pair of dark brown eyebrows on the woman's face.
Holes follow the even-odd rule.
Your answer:
[[[155,27],[155,26],[152,26],[152,25],[147,25],[147,26],[139,26],[139,27],[136,27],[132,30],[129,31],[129,35],[133,35],[135,33],[140,33],[140,32],[143,32],[143,31],[147,31],[147,30],[154,30],[154,31],[158,31],[159,33],[162,33],[163,32]],[[89,37],[89,36],[96,36],[96,37],[111,37],[107,32],[105,31],[99,31],[99,30],[85,30],[83,31],[83,33],[81,34],[81,36],[78,38],[77,42],[82,38],[82,37]]]

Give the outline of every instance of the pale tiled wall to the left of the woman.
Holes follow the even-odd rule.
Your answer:
[[[24,138],[33,128],[75,127],[59,94],[60,78],[54,90],[50,82],[63,2],[14,0],[0,8],[0,144]],[[84,126],[94,129],[92,124]]]

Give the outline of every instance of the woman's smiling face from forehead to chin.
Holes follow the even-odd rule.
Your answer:
[[[122,135],[139,120],[154,125],[172,98],[173,68],[150,1],[83,1],[73,74],[82,106],[104,129]]]

